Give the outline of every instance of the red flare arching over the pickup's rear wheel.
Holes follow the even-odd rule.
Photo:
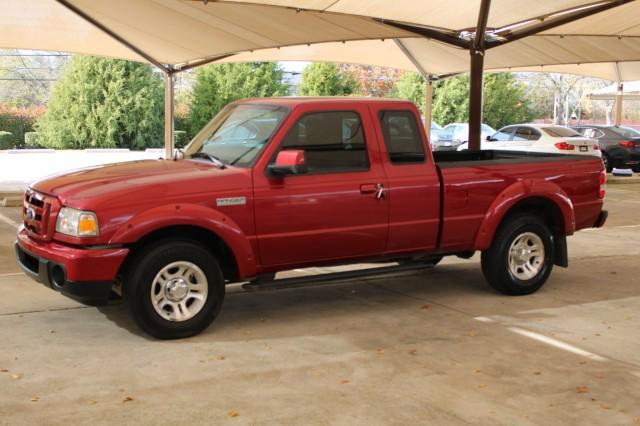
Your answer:
[[[574,233],[576,220],[573,204],[569,196],[553,182],[527,179],[508,186],[493,201],[476,235],[474,249],[488,249],[505,215],[517,203],[528,198],[545,198],[553,202],[562,213],[564,221],[563,235],[572,235]]]

